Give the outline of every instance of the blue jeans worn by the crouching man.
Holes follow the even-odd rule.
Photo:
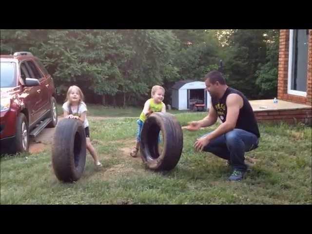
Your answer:
[[[210,133],[204,136],[209,134]],[[244,162],[245,152],[257,148],[258,143],[258,137],[253,133],[235,128],[232,131],[211,140],[210,143],[204,147],[203,151],[230,160],[233,169],[246,171],[247,166]]]

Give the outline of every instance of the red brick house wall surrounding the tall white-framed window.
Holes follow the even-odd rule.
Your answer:
[[[287,94],[289,32],[290,32],[289,29],[280,30],[277,98],[285,101],[292,101],[312,106],[312,29],[309,29],[307,97]]]

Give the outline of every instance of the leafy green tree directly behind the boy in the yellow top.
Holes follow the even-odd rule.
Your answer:
[[[133,51],[121,66],[122,92],[143,101],[153,85],[163,85],[165,78],[177,75],[172,58],[178,41],[171,30],[121,30],[120,33]]]

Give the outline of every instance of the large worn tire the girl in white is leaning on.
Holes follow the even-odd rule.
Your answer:
[[[86,163],[86,135],[77,119],[61,119],[52,144],[52,167],[63,182],[77,181]]]

